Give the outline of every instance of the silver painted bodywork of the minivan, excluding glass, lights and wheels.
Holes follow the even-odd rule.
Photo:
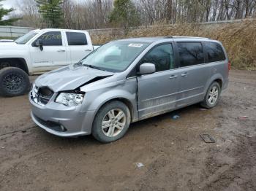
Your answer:
[[[132,114],[132,122],[135,122],[203,101],[209,85],[217,79],[222,81],[222,90],[227,88],[228,60],[223,47],[225,61],[130,76],[140,59],[157,44],[169,42],[175,47],[175,43],[181,41],[221,44],[220,42],[189,37],[129,39],[132,40],[151,44],[125,71],[112,73],[86,66],[66,66],[38,77],[34,84],[37,87],[49,87],[53,95],[45,105],[37,104],[31,94],[29,95],[31,117],[34,122],[57,136],[88,135],[91,133],[97,111],[113,99],[127,104]],[[188,75],[182,75],[184,73]],[[78,88],[85,92],[82,104],[64,106],[55,102],[59,92]],[[66,131],[53,130],[48,126],[48,122],[63,125]]]

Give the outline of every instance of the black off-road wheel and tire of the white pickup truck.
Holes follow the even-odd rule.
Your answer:
[[[29,85],[29,76],[22,69],[7,67],[0,70],[0,95],[23,95],[29,90]]]

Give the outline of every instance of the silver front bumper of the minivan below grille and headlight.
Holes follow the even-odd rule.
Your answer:
[[[80,112],[80,106],[64,106],[49,101],[45,106],[31,103],[31,118],[44,130],[56,136],[83,136],[91,134],[94,111]]]

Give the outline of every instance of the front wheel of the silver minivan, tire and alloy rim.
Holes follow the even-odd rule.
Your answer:
[[[122,114],[124,114],[124,117]],[[120,120],[118,120],[118,115]],[[111,117],[113,120],[111,120]],[[105,125],[102,125],[102,122]],[[94,117],[92,135],[102,143],[109,143],[121,139],[127,132],[131,114],[128,107],[121,101],[111,101],[102,106]]]

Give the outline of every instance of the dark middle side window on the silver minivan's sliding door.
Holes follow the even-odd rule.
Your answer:
[[[200,42],[178,42],[180,67],[192,66],[204,62],[203,47]]]

